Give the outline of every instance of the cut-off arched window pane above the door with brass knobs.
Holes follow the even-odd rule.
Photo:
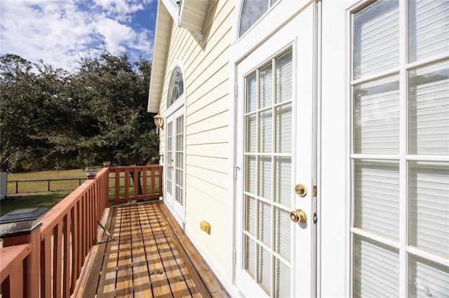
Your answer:
[[[277,0],[243,0],[240,15],[239,36],[245,34]]]

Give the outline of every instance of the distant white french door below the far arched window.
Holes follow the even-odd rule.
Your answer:
[[[166,132],[166,200],[180,222],[185,220],[184,127],[184,109],[180,108],[167,118]]]

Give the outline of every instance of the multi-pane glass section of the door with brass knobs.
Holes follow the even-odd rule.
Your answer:
[[[243,268],[270,297],[292,284],[291,69],[289,51],[246,78]]]

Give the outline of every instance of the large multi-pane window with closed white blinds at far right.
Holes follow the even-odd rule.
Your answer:
[[[376,1],[352,24],[353,294],[443,297],[449,1]]]

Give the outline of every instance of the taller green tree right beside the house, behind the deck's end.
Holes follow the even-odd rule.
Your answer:
[[[159,143],[147,113],[150,76],[151,64],[142,58],[131,63],[128,55],[105,51],[82,59],[72,81],[81,162],[145,165],[156,156]]]

